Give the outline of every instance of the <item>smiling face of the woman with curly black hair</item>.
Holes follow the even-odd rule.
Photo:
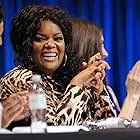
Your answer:
[[[64,57],[65,42],[61,28],[52,21],[42,21],[33,40],[33,58],[47,75],[60,66]]]

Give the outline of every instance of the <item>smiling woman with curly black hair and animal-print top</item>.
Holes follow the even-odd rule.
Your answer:
[[[114,116],[107,95],[103,99],[88,89],[96,73],[103,73],[108,67],[100,56],[96,64],[73,77],[79,66],[71,51],[72,25],[63,10],[39,5],[25,7],[12,22],[11,41],[17,67],[0,81],[4,128],[30,124],[28,89],[33,74],[42,77],[48,125],[79,125],[87,119]]]

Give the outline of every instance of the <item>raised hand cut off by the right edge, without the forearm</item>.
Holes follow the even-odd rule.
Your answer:
[[[126,88],[128,95],[135,98],[140,97],[140,61],[138,61],[128,73]]]

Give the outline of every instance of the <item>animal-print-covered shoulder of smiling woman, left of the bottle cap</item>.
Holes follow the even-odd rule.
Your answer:
[[[28,90],[32,84],[32,71],[20,66],[7,72],[0,80],[0,100],[5,100],[11,94]]]

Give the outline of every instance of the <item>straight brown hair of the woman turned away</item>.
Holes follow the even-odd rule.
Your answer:
[[[89,58],[101,50],[101,30],[93,23],[72,19],[72,50],[77,52],[81,61],[88,62]]]

